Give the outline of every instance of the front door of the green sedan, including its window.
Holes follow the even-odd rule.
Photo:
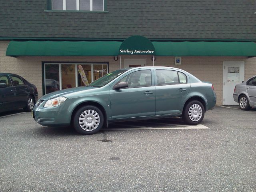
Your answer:
[[[156,110],[156,88],[151,69],[134,70],[116,80],[110,88],[112,119],[154,116]],[[113,90],[119,82],[128,87]]]

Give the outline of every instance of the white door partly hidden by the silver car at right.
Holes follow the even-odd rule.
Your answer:
[[[236,84],[244,80],[243,61],[223,62],[223,105],[238,105],[233,99]]]

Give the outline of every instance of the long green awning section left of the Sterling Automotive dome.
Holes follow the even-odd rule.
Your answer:
[[[7,56],[116,56],[118,41],[11,41]]]

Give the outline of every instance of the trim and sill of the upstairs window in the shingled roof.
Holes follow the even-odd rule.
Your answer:
[[[80,10],[80,0],[76,0],[76,10],[66,10],[66,0],[62,0],[63,2],[63,10],[54,10],[53,9],[53,0],[47,0],[47,9],[45,12],[108,12],[107,10],[107,0],[103,0],[103,10],[93,10],[93,0],[90,0],[90,10]]]

